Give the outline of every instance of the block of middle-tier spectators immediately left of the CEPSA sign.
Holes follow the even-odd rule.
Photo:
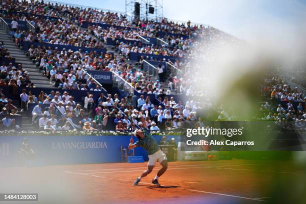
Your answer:
[[[62,89],[97,90],[101,87],[84,73],[84,70],[111,71],[116,60],[111,53],[72,51],[55,47],[31,46],[29,58],[43,71],[55,87]],[[122,61],[124,62],[124,61]],[[122,64],[120,62],[120,65]]]

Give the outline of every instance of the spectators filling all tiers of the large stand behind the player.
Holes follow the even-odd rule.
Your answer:
[[[30,13],[19,15],[2,13],[1,15],[14,20],[28,20],[35,27],[32,30],[12,29],[12,35],[18,45],[23,41],[47,42],[51,44],[73,45],[82,47],[103,48],[107,38],[139,40],[138,35],[156,37],[158,31],[165,32],[161,37],[168,45],[154,44],[124,44],[116,42],[116,50],[122,55],[117,57],[111,53],[97,53],[95,51],[78,51],[34,47],[28,49],[29,58],[50,79],[50,83],[62,89],[79,89],[101,91],[101,88],[92,78],[88,77],[83,69],[113,71],[122,77],[127,88],[133,87],[141,94],[155,94],[158,101],[151,103],[150,98],[132,99],[127,95],[121,99],[111,95],[101,97],[95,101],[89,93],[83,101],[73,101],[65,91],[61,95],[52,91],[48,95],[40,92],[35,97],[30,91],[23,90],[20,95],[22,111],[28,111],[30,103],[35,104],[32,110],[32,122],[46,130],[68,130],[82,128],[89,130],[100,130],[107,128],[109,121],[114,124],[117,131],[128,131],[132,125],[141,127],[137,112],[145,116],[147,126],[152,130],[179,129],[192,121],[197,121],[196,111],[203,106],[209,106],[207,101],[188,100],[185,104],[175,101],[169,97],[171,91],[183,93],[187,96],[201,96],[194,89],[192,81],[189,80],[193,74],[194,80],[201,80],[201,74],[188,70],[189,64],[184,57],[194,55],[198,49],[202,49],[200,42],[195,37],[223,37],[217,30],[203,26],[191,25],[190,22],[180,24],[162,18],[159,21],[134,19],[130,21],[126,16],[110,11],[92,8],[79,8],[67,5],[49,3],[44,1],[4,0],[2,9],[8,11],[20,11]],[[48,16],[48,17],[45,17]],[[84,22],[97,22],[111,24],[108,28],[89,25],[87,30],[79,27]],[[117,25],[121,26],[118,27]],[[224,35],[225,36],[225,35]],[[195,48],[195,51],[193,50]],[[193,51],[192,51],[193,50]],[[159,64],[157,67],[158,79],[148,75],[141,69],[135,69],[125,62],[124,57],[129,58],[130,52],[143,54],[154,54],[164,56],[178,56],[179,60],[167,62],[180,69],[182,73],[167,73]],[[196,55],[201,56],[201,55]],[[139,64],[143,63],[141,57]],[[154,60],[154,59],[152,59]],[[165,59],[163,60],[165,61]],[[186,68],[188,67],[188,68]],[[165,82],[165,83],[164,83]],[[61,117],[64,115],[64,117]]]

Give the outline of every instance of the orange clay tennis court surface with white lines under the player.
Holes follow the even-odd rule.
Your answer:
[[[17,177],[6,189],[28,186],[26,191],[38,192],[41,203],[264,203],[275,199],[275,180],[281,185],[306,177],[305,169],[290,161],[175,161],[160,177],[161,187],[151,184],[159,165],[133,186],[145,167],[146,162],[18,167],[1,177]]]

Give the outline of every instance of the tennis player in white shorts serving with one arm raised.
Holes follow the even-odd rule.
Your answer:
[[[149,160],[147,162],[147,169],[135,179],[134,185],[138,185],[141,178],[149,174],[153,170],[156,162],[158,161],[161,164],[162,168],[158,170],[157,175],[152,179],[152,183],[157,186],[160,186],[160,184],[158,183],[158,178],[166,171],[168,167],[167,157],[160,150],[150,130],[147,128],[142,113],[138,111],[134,111],[134,113],[139,114],[140,121],[143,124],[143,129],[135,129],[133,134],[138,138],[138,141],[133,143],[133,139],[131,138],[129,140],[128,149],[135,148],[136,146],[141,146],[147,151],[149,157]]]

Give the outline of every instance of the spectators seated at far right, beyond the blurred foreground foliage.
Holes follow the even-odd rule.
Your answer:
[[[260,119],[273,120],[286,129],[306,130],[306,96],[278,75],[269,74],[259,91],[270,100],[261,105]]]

